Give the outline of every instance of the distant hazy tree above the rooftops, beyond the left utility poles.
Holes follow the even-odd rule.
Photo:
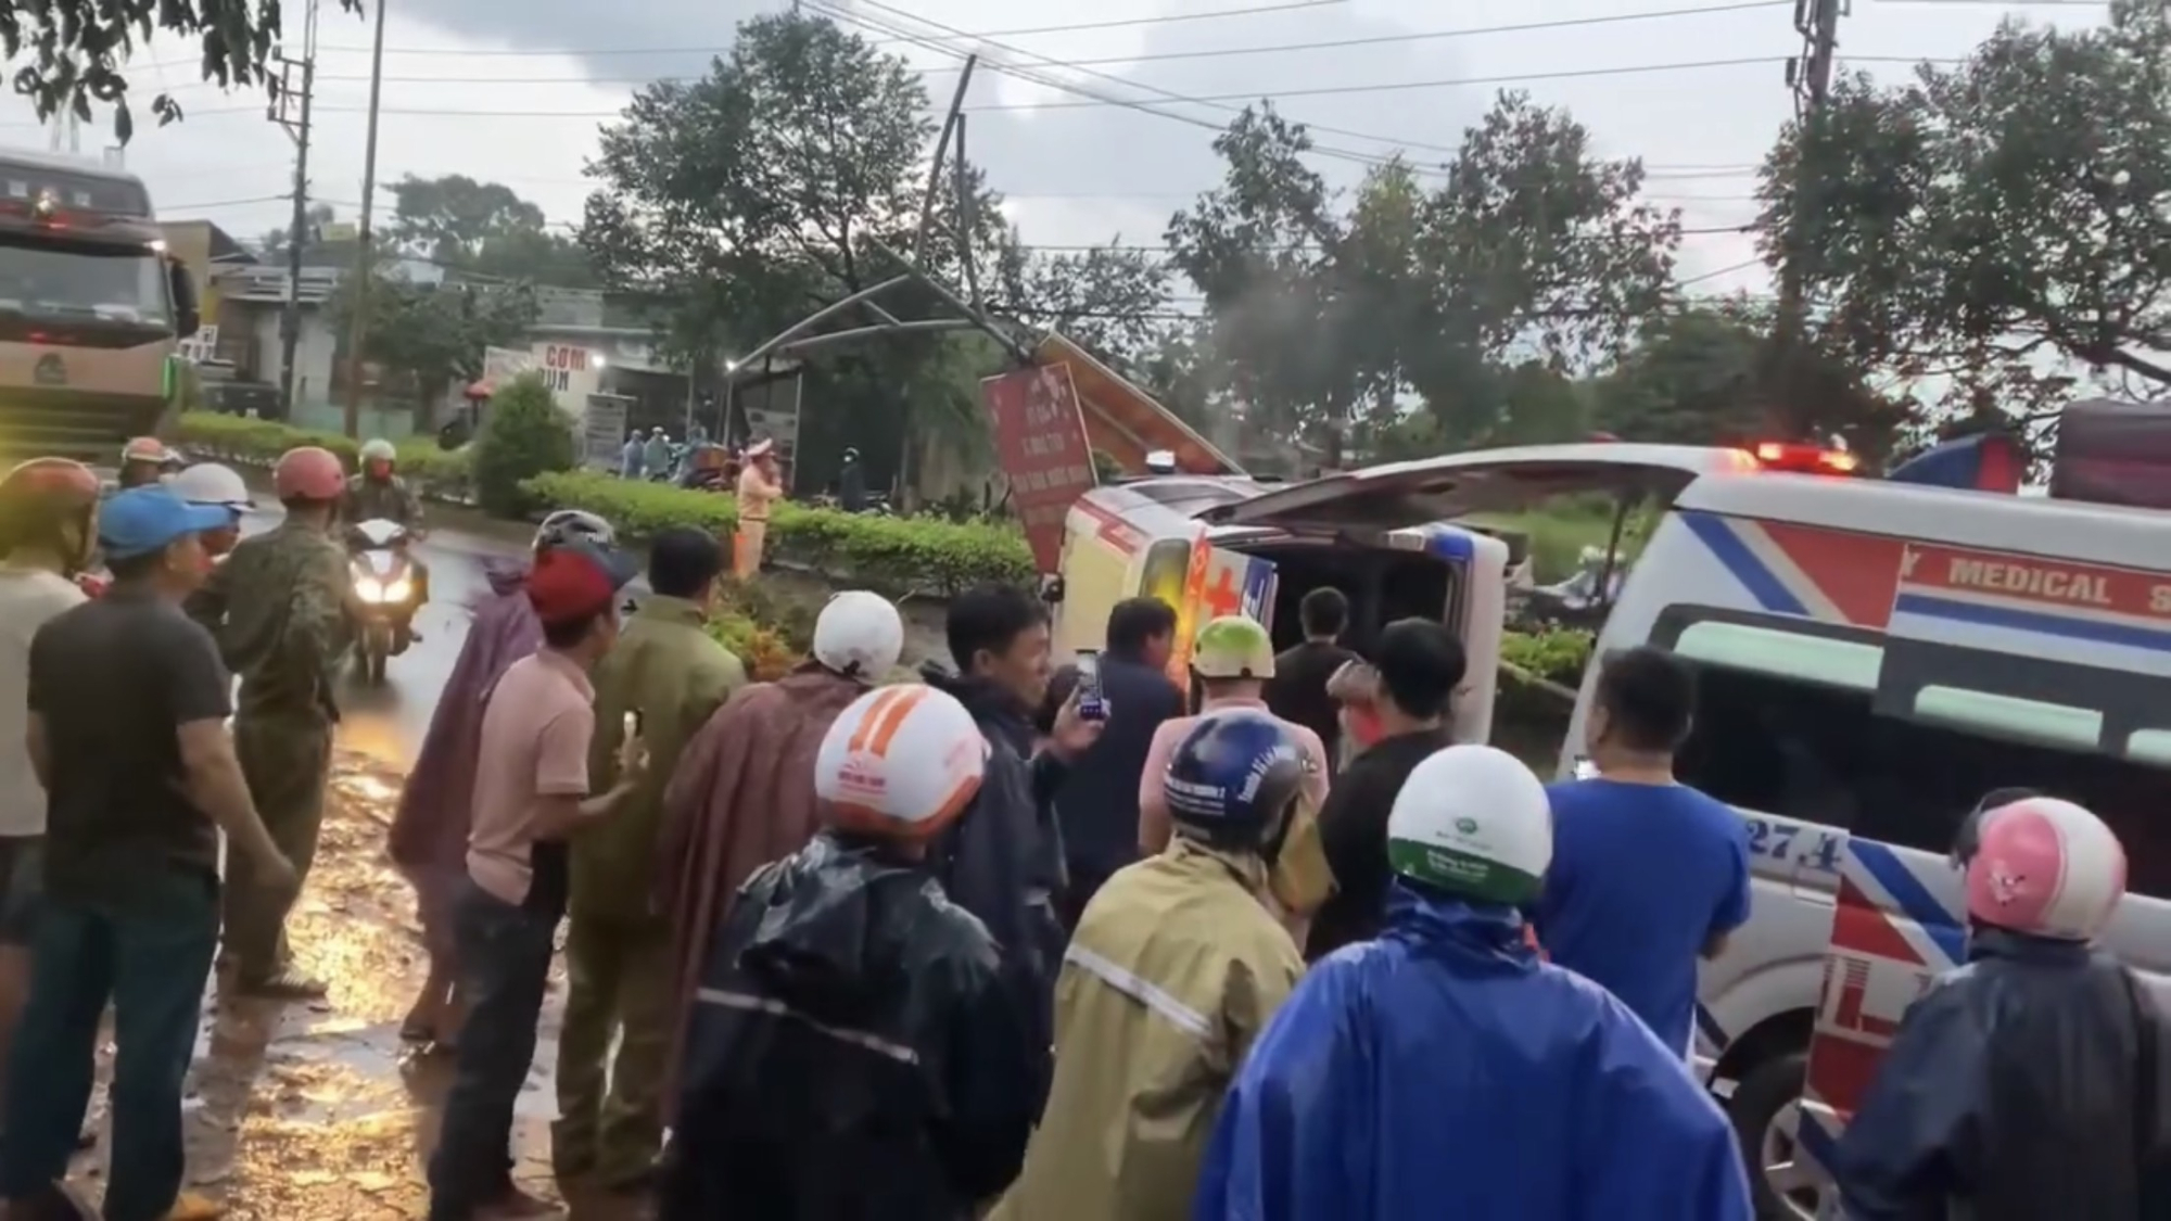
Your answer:
[[[478,276],[591,287],[577,241],[549,232],[543,209],[499,182],[465,174],[393,182],[386,237],[397,250]]]

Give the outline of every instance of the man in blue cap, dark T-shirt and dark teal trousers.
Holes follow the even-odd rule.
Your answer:
[[[59,1180],[91,1097],[98,1019],[115,1008],[109,1221],[161,1221],[182,1180],[182,1078],[219,943],[219,830],[265,886],[293,886],[234,760],[232,682],[180,604],[228,513],[163,484],[98,515],[104,597],[30,641],[28,752],[46,784],[46,906],[9,1065],[0,1195],[67,1217]]]

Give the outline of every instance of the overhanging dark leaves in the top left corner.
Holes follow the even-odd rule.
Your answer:
[[[198,43],[202,78],[221,89],[263,85],[276,91],[267,72],[282,26],[280,0],[46,0],[0,7],[0,50],[15,70],[15,91],[30,98],[37,117],[69,111],[91,117],[91,104],[113,106],[113,135],[122,143],[135,135],[128,109],[128,56],[152,33],[180,35]],[[339,9],[360,13],[360,0],[339,0]],[[161,124],[180,117],[180,102],[158,93],[150,102]]]

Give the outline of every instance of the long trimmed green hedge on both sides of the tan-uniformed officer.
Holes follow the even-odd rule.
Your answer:
[[[525,487],[543,504],[586,508],[634,537],[666,526],[699,526],[716,534],[738,528],[738,502],[714,491],[632,482],[599,471],[547,474]],[[769,519],[769,554],[834,580],[890,591],[953,593],[990,580],[1033,582],[1033,556],[1025,537],[1012,528],[875,517],[790,502],[777,504]]]

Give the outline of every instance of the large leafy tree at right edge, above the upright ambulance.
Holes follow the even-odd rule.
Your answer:
[[[1763,167],[1763,252],[1856,367],[1958,406],[2062,402],[2078,367],[2171,389],[2171,9],[2006,22],[1958,67],[1839,80]],[[2078,367],[2075,367],[2078,365]]]

